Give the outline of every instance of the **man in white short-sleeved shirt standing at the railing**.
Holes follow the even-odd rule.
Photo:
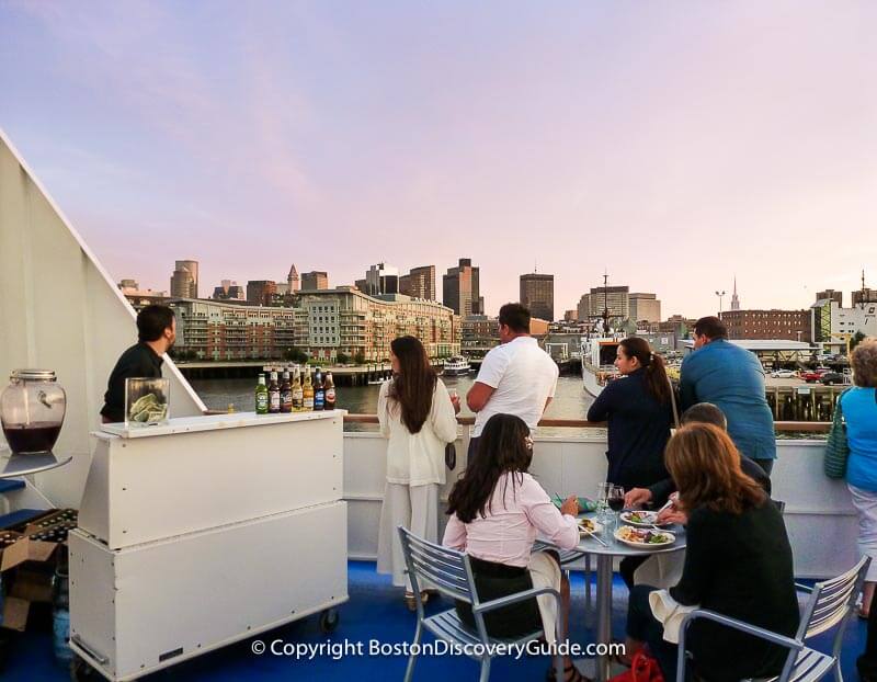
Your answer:
[[[515,414],[536,428],[557,388],[558,368],[550,355],[529,336],[529,310],[519,303],[500,308],[500,345],[481,363],[466,395],[476,413],[469,439],[468,462],[478,452],[478,437],[493,414]]]

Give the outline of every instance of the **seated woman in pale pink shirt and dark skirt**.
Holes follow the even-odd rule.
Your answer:
[[[469,555],[478,598],[491,601],[532,588],[550,587],[561,593],[562,616],[549,595],[488,612],[485,625],[494,637],[521,637],[538,629],[555,641],[555,624],[562,617],[567,632],[569,583],[561,577],[557,557],[531,553],[537,531],[563,549],[579,543],[574,497],[560,511],[548,493],[527,474],[533,442],[526,423],[512,414],[491,417],[478,441],[478,456],[451,491],[443,544]],[[457,602],[460,620],[475,627],[469,604]],[[584,678],[568,658],[563,661],[567,682]]]

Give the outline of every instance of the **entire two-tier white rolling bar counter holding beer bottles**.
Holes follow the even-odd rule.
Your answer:
[[[104,424],[70,534],[70,634],[133,680],[348,599],[343,410]]]

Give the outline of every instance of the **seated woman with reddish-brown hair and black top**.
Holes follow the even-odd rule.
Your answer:
[[[740,469],[740,454],[713,424],[680,429],[667,446],[667,468],[686,512],[685,567],[670,595],[732,618],[793,636],[798,601],[783,516]],[[627,652],[648,643],[667,680],[676,675],[676,647],[663,640],[649,606],[654,588],[630,591]],[[697,621],[687,632],[692,666],[704,680],[779,674],[788,649],[717,623]]]

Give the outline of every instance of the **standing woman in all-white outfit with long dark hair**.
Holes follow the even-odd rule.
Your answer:
[[[414,337],[390,342],[390,362],[392,379],[380,386],[377,400],[380,433],[389,439],[377,570],[391,573],[396,587],[406,587],[406,603],[413,611],[417,604],[396,528],[401,525],[430,542],[438,539],[438,487],[445,482],[445,444],[457,437],[459,399],[452,401]]]

